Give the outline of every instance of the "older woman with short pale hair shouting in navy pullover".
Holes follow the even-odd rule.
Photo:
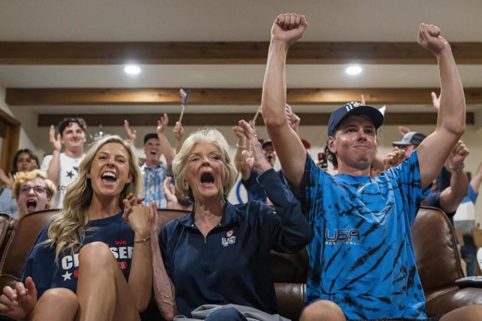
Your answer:
[[[176,314],[197,318],[191,312],[202,304],[239,308],[218,308],[206,320],[246,320],[238,312],[245,308],[277,313],[269,252],[296,252],[311,239],[299,203],[266,160],[256,133],[245,121],[240,125],[251,145],[251,154],[244,152],[246,161],[260,174],[258,181],[274,208],[226,200],[237,173],[219,131],[204,128],[186,139],[173,173],[176,188],[189,196],[194,209],[160,231],[162,259],[152,244],[155,294],[167,319]]]

